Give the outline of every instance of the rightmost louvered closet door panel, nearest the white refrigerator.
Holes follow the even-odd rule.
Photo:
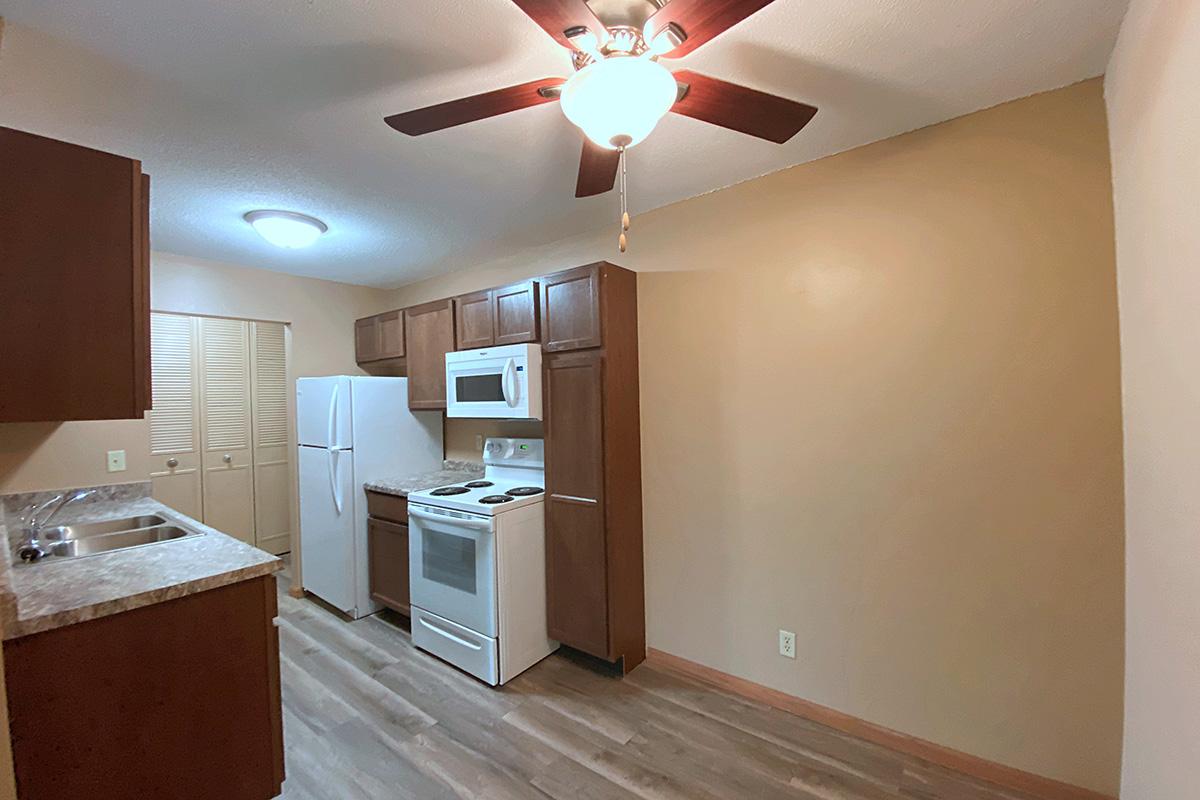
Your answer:
[[[254,543],[276,554],[292,549],[286,337],[287,329],[282,323],[250,324]]]

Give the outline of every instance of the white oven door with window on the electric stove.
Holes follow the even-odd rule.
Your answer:
[[[492,519],[408,506],[413,606],[496,638],[496,537]]]

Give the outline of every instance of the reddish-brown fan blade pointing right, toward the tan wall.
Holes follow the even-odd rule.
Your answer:
[[[791,139],[817,113],[814,106],[690,70],[679,70],[673,74],[676,80],[688,85],[688,92],[671,107],[672,112],[775,144]]]

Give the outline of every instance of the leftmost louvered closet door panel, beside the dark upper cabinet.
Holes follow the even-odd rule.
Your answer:
[[[178,314],[151,314],[150,365],[154,498],[188,517],[203,519],[196,320]]]

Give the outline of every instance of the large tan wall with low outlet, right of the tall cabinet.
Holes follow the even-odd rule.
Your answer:
[[[1109,181],[1092,80],[635,217],[628,257],[610,225],[396,305],[641,271],[649,644],[1115,794]]]

